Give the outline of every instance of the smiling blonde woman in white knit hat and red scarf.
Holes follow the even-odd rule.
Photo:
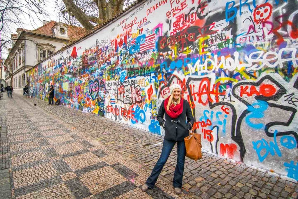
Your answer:
[[[177,143],[177,164],[174,172],[173,187],[176,194],[181,194],[186,154],[184,138],[189,135],[189,130],[192,128],[195,120],[189,103],[181,97],[181,87],[179,84],[170,86],[170,96],[160,105],[157,120],[165,129],[162,153],[151,175],[142,186],[142,191],[147,191],[148,188],[153,189],[164,164],[167,162],[174,145]]]

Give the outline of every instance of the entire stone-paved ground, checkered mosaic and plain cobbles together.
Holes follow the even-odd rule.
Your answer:
[[[13,178],[10,178],[11,181],[13,180],[13,196],[16,195],[17,190],[19,195],[31,193],[32,196],[32,192],[36,191],[35,194],[46,192],[55,196],[56,192],[60,194],[64,192],[64,195],[70,197],[83,198],[86,191],[100,198],[102,195],[97,195],[100,191],[100,193],[104,192],[103,194],[116,192],[111,185],[107,185],[108,183],[105,184],[108,186],[104,188],[105,191],[102,190],[103,181],[109,179],[109,182],[112,181],[113,185],[117,184],[120,190],[122,187],[130,187],[123,188],[122,192],[126,192],[132,198],[178,197],[172,192],[171,186],[176,166],[176,148],[173,149],[174,152],[162,171],[161,175],[164,178],[158,181],[158,188],[147,193],[139,189],[159,158],[162,136],[153,135],[104,117],[93,116],[63,106],[48,105],[47,102],[35,98],[16,95],[13,99],[5,97],[0,101],[1,111],[3,102],[11,100],[11,103],[6,106],[6,109],[10,109],[6,117],[10,140],[10,152],[8,153],[10,153],[12,162],[10,175],[12,176],[11,172],[13,173]],[[2,125],[5,126],[3,121],[6,120],[0,119]],[[31,144],[31,142],[35,143]],[[94,153],[97,150],[105,156],[101,157],[102,155]],[[28,158],[30,156],[31,158]],[[4,160],[7,159],[4,158]],[[41,171],[42,177],[38,175],[35,167]],[[121,172],[123,170],[126,172]],[[94,175],[95,173],[100,173],[100,175]],[[106,177],[103,178],[102,175]],[[34,177],[32,179],[28,176]],[[43,189],[45,180],[55,185]],[[24,184],[25,190],[28,189],[30,192],[20,192],[20,188],[15,187],[19,186],[19,183]],[[32,186],[33,183],[34,186]],[[35,186],[36,188],[32,188]],[[96,189],[97,187],[99,190]],[[294,179],[208,152],[204,152],[203,158],[199,161],[186,159],[183,187],[184,194],[180,197],[296,199],[298,196],[297,181]],[[74,190],[79,191],[77,193]],[[117,195],[122,192],[117,191]],[[109,196],[115,197],[113,194]]]

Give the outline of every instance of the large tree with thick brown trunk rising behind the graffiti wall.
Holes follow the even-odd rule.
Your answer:
[[[136,0],[55,0],[60,16],[69,24],[91,30],[103,24]]]

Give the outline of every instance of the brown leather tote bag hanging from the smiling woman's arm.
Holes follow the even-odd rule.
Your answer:
[[[189,131],[189,136],[184,138],[184,142],[186,148],[186,157],[193,160],[202,158],[201,134],[194,133],[193,127],[191,127],[191,130]]]

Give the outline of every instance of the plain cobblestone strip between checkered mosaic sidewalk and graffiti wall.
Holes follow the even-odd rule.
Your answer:
[[[38,104],[47,112],[148,169],[153,169],[159,158],[162,136],[75,109],[49,106],[47,102],[35,98],[25,100]],[[177,148],[173,149],[161,173],[168,179],[169,184],[176,166],[176,150]],[[294,179],[209,152],[204,152],[203,158],[198,161],[186,158],[183,181],[184,192],[192,198],[296,199],[298,197],[298,185]]]

